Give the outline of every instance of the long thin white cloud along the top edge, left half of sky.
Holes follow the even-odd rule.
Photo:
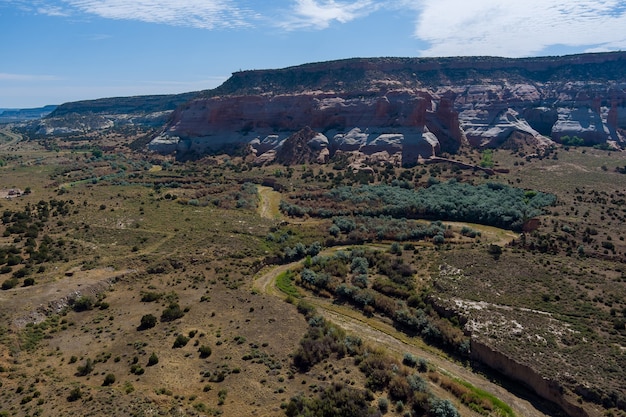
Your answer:
[[[250,26],[257,15],[229,0],[64,0],[107,19],[219,29]]]

